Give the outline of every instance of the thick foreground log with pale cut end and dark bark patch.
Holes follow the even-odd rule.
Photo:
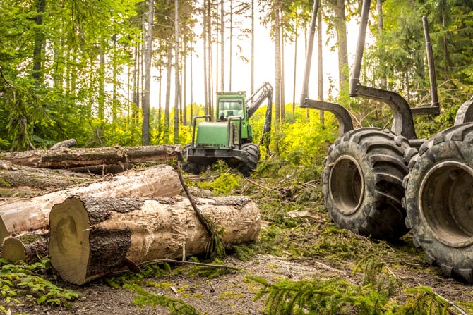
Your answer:
[[[196,199],[234,245],[258,239],[260,214],[248,197]],[[208,234],[184,197],[69,197],[49,217],[49,256],[64,280],[82,285],[132,261],[175,259],[205,251]]]

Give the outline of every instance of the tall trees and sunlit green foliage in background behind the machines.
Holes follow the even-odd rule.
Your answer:
[[[381,104],[347,97],[352,66],[347,21],[359,19],[359,6],[359,1],[323,2],[318,45],[335,39],[332,49],[337,51],[340,80],[324,87],[319,79],[313,93],[320,89],[319,99],[325,94],[346,106],[359,125],[383,127],[390,112]],[[421,135],[433,135],[452,123],[457,106],[471,96],[472,4],[379,0],[372,6],[373,44],[366,49],[362,80],[402,94],[412,107],[429,102],[419,22],[421,16],[428,17],[442,114],[435,123],[419,121],[419,126]],[[229,58],[230,65],[232,58],[253,63],[253,49],[236,50],[242,38],[253,45],[259,40],[251,32],[256,24],[264,25],[274,43],[270,49],[275,51],[275,67],[268,69],[275,78],[274,119],[285,128],[297,121],[294,95],[285,95],[285,86],[294,85],[294,94],[300,87],[291,73],[294,61],[284,58],[289,53],[282,47],[295,41],[296,48],[304,51],[311,8],[311,1],[2,0],[0,149],[47,148],[71,137],[83,147],[185,144],[191,116],[211,113],[215,91],[232,87],[232,68],[225,67],[224,59]],[[255,12],[263,12],[261,19],[256,20]],[[202,51],[195,51],[197,42],[203,42]],[[196,54],[203,56],[203,69],[191,68]],[[328,65],[322,54],[318,58],[323,76]],[[151,69],[158,74],[151,75]],[[204,75],[204,104],[192,104],[191,70]],[[260,84],[253,82],[253,71],[247,76],[248,92]],[[150,99],[151,81],[157,83],[157,99]]]

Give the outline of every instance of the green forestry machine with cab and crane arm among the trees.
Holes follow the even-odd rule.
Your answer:
[[[249,120],[265,99],[268,100],[268,107],[263,132],[259,144],[254,144]],[[249,176],[260,158],[259,145],[265,142],[267,148],[269,146],[272,101],[273,87],[268,82],[263,83],[248,99],[246,92],[242,91],[217,92],[215,121],[211,121],[210,115],[193,117],[192,142],[184,147],[184,171],[198,174],[206,166],[223,159],[229,167]],[[201,119],[204,121],[197,125]]]

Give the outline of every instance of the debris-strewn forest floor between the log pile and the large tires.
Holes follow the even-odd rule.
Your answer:
[[[357,301],[371,297],[373,292],[384,292],[387,283],[395,283],[389,302],[376,302],[381,306],[373,314],[409,303],[418,308],[411,314],[427,314],[432,307],[432,303],[422,302],[427,296],[433,297],[431,301],[450,302],[450,314],[473,314],[468,304],[473,301],[473,286],[443,278],[440,268],[429,266],[421,249],[414,247],[410,234],[388,243],[337,228],[323,206],[321,183],[304,180],[304,175],[295,172],[277,180],[261,176],[246,180],[218,171],[188,176],[189,185],[210,189],[214,194],[248,195],[261,209],[260,241],[240,245],[217,261],[237,270],[160,264],[138,274],[121,273],[76,286],[62,282],[47,269],[42,277],[80,295],[72,300],[58,295],[59,302],[51,305],[36,303],[41,292],[33,292],[32,297],[23,293],[16,297],[21,304],[3,299],[0,310],[5,314],[267,314],[277,299],[271,302],[267,293],[256,299],[265,288],[261,284],[264,279],[268,283],[311,283],[323,290],[335,290],[333,297],[340,297],[340,301],[352,301],[353,305],[334,314],[366,314]],[[335,282],[337,288],[346,290],[330,287],[333,281],[341,281]],[[165,297],[164,303],[160,297]],[[273,309],[273,314],[281,313]]]

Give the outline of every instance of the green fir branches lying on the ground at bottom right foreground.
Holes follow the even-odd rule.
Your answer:
[[[361,271],[361,283],[345,279],[282,280],[268,283],[248,276],[263,288],[255,299],[265,298],[268,315],[289,314],[467,314],[473,303],[463,309],[437,295],[431,288],[406,288],[392,276],[375,255],[362,259],[353,274]],[[471,313],[469,313],[471,314]]]

